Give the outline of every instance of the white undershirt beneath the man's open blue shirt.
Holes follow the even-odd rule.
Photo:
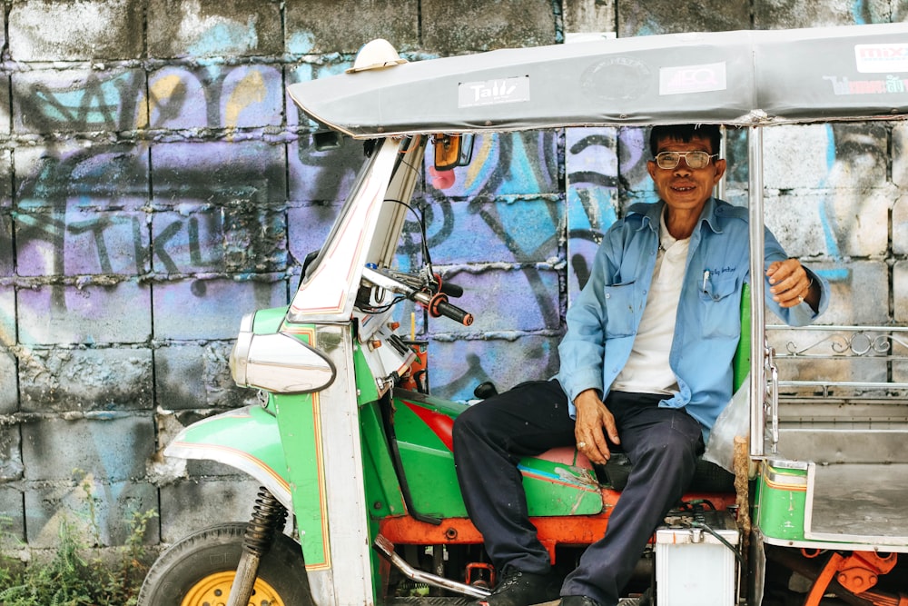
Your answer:
[[[690,238],[673,238],[666,227],[665,213],[659,224],[659,252],[656,253],[653,283],[646,295],[643,318],[627,364],[612,383],[612,389],[620,392],[671,395],[677,391],[677,378],[668,356],[675,335]]]

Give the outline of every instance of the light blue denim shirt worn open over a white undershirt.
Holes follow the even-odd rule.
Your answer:
[[[558,346],[558,382],[574,398],[593,388],[603,400],[627,363],[646,293],[653,279],[659,246],[659,217],[665,203],[635,204],[609,228],[593,262],[587,285],[568,310],[568,333]],[[764,267],[788,258],[766,230]],[[829,303],[829,284],[804,268],[820,286],[819,313]],[[706,273],[708,272],[708,274]],[[764,280],[766,280],[764,276]],[[732,395],[732,359],[741,335],[741,289],[750,281],[747,209],[710,198],[687,251],[684,284],[669,363],[679,391],[660,406],[681,408],[704,429],[704,438]],[[766,303],[785,323],[803,326],[814,320],[807,303],[783,308]]]

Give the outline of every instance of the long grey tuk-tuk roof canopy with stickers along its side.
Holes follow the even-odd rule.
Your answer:
[[[565,126],[908,116],[908,24],[651,35],[505,49],[291,84],[357,138]]]

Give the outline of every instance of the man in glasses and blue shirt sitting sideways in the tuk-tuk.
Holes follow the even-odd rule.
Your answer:
[[[646,167],[659,194],[608,230],[568,311],[548,382],[518,385],[463,412],[454,460],[470,519],[503,581],[479,603],[616,606],[656,526],[693,478],[732,394],[731,362],[749,274],[746,209],[712,197],[725,173],[718,126],[656,126]],[[765,237],[766,300],[786,323],[822,312],[828,286]],[[618,445],[627,487],[577,569],[561,582],[529,522],[520,458],[577,444],[594,463]]]

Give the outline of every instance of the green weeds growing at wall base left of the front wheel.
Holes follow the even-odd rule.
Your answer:
[[[66,520],[60,524],[53,560],[24,564],[0,554],[0,605],[133,606],[147,570],[143,538],[156,515],[153,511],[133,513],[129,537],[119,548],[114,565],[100,557],[86,560],[87,547]]]

